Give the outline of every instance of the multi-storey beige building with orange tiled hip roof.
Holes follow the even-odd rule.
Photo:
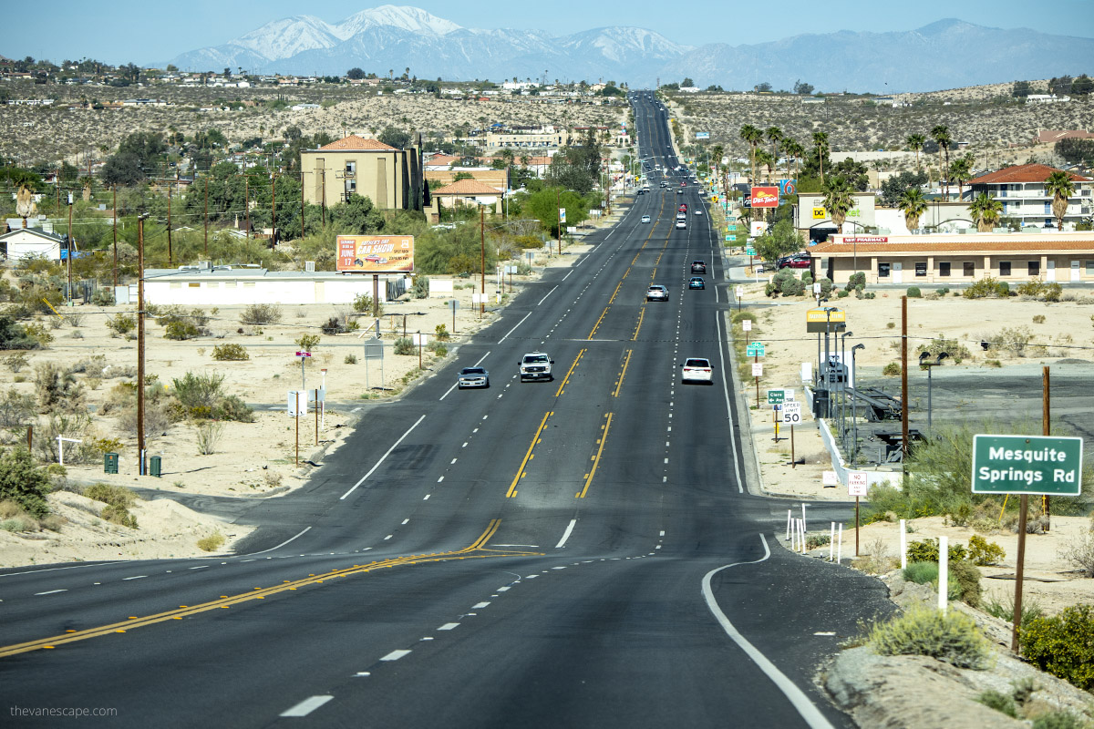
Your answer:
[[[317,150],[300,153],[304,199],[335,205],[354,195],[382,210],[423,210],[428,192],[421,142],[397,150],[374,139],[350,134]]]

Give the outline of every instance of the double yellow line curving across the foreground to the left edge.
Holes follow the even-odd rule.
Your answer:
[[[247,602],[249,600],[264,600],[267,597],[271,595],[277,595],[279,592],[296,590],[301,587],[305,587],[309,585],[323,584],[324,581],[331,580],[336,577],[348,577],[350,575],[365,574],[374,569],[385,569],[389,567],[396,567],[399,565],[422,564],[427,562],[445,562],[450,560],[480,560],[489,556],[505,556],[505,555],[512,556],[514,554],[529,554],[529,555],[542,554],[538,552],[514,552],[514,551],[502,552],[500,550],[484,549],[484,545],[494,536],[500,526],[501,526],[501,519],[491,519],[490,525],[487,527],[486,531],[484,531],[478,539],[476,539],[474,542],[472,542],[464,549],[454,552],[435,552],[431,554],[408,554],[399,557],[392,557],[388,560],[370,562],[369,564],[364,565],[356,564],[352,567],[331,569],[329,572],[322,573],[318,575],[309,575],[303,579],[296,579],[291,581],[287,580],[274,587],[256,589],[251,592],[242,592],[240,595],[224,596],[219,600],[210,600],[208,602],[202,602],[200,604],[179,605],[179,608],[175,610],[167,610],[152,615],[144,615],[143,618],[130,619],[123,622],[110,623],[107,625],[100,625],[97,627],[90,627],[83,631],[75,631],[73,633],[54,635],[46,638],[38,638],[36,640],[27,640],[25,643],[16,643],[10,646],[0,646],[0,658],[30,652],[32,650],[40,650],[43,648],[54,648],[56,646],[65,645],[67,643],[86,640],[89,638],[101,637],[104,635],[126,633],[135,627],[146,627],[148,625],[163,623],[168,620],[183,620],[184,618],[198,615],[203,612],[209,612],[210,610],[225,609],[230,608],[231,605]],[[487,552],[487,553],[478,554],[477,552]]]

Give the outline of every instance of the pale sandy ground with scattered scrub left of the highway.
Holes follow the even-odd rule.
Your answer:
[[[609,224],[608,221],[601,223]],[[246,536],[248,527],[221,524],[217,518],[200,515],[170,501],[172,494],[208,494],[214,496],[266,497],[279,495],[306,482],[315,470],[307,463],[322,462],[324,456],[338,448],[357,423],[357,410],[366,407],[368,400],[398,397],[419,377],[431,376],[445,358],[422,353],[422,369],[418,369],[418,355],[395,355],[394,340],[401,336],[406,317],[408,333],[422,331],[432,333],[438,325],[453,328],[452,310],[446,304],[457,298],[455,336],[449,343],[447,358],[458,357],[458,345],[475,331],[493,321],[500,309],[520,293],[528,282],[538,280],[545,267],[569,267],[579,255],[589,249],[580,243],[565,245],[566,255],[546,257],[537,254],[533,260],[533,273],[513,277],[513,293],[500,303],[492,302],[485,316],[472,303],[478,283],[470,279],[456,279],[454,296],[445,295],[427,299],[409,299],[385,305],[382,322],[385,354],[383,373],[379,361],[362,356],[363,346],[359,333],[322,336],[321,343],[313,350],[313,357],[306,365],[309,389],[324,381],[321,373],[325,368],[327,408],[319,419],[316,431],[314,410],[300,420],[300,465],[296,465],[295,422],[287,413],[287,393],[301,386],[300,360],[294,356],[294,343],[302,334],[317,333],[318,325],[331,316],[344,314],[348,307],[331,305],[286,306],[283,319],[277,326],[263,326],[261,333],[237,333],[237,307],[221,307],[209,322],[213,337],[188,341],[172,341],[163,338],[163,328],[154,322],[148,325],[146,348],[147,372],[165,384],[168,390],[174,378],[187,372],[197,374],[217,373],[224,376],[224,390],[238,395],[255,408],[254,423],[223,423],[223,434],[211,455],[198,454],[197,427],[193,422],[174,423],[165,430],[148,432],[149,456],[162,457],[162,478],[138,475],[138,454],[136,434],[124,430],[116,418],[116,411],[98,414],[109,391],[121,381],[132,383],[132,376],[108,378],[110,369],[136,367],[137,342],[110,337],[105,326],[107,317],[116,311],[131,313],[129,307],[77,306],[61,309],[62,314],[74,310],[83,314],[79,327],[63,324],[51,331],[55,339],[48,348],[27,352],[28,364],[19,373],[10,368],[0,369],[0,391],[9,388],[34,396],[35,367],[54,362],[62,366],[101,355],[94,367],[77,374],[88,409],[93,413],[91,425],[83,434],[84,439],[93,437],[119,438],[119,468],[117,474],[104,473],[102,456],[94,456],[89,462],[66,462],[67,478],[73,484],[105,482],[141,489],[158,489],[164,498],[141,502],[133,508],[138,529],[127,529],[103,522],[96,518],[103,504],[88,504],[83,497],[61,491],[50,495],[50,504],[67,524],[59,532],[49,530],[10,532],[0,530],[0,566],[13,566],[44,562],[83,561],[94,558],[154,558],[202,554],[196,541],[214,532],[222,533],[228,541],[223,550],[230,550],[232,541]],[[432,277],[432,281],[442,277]],[[493,292],[494,282],[487,281],[487,291]],[[238,307],[242,308],[242,307]],[[207,313],[211,313],[207,310]],[[74,336],[75,334],[75,336]],[[223,334],[222,338],[220,336]],[[368,337],[368,334],[365,334]],[[238,343],[247,349],[251,358],[244,362],[216,362],[211,357],[217,344]],[[348,363],[347,355],[354,354],[357,363]],[[473,363],[467,363],[473,364]],[[100,377],[105,366],[107,376]],[[19,381],[16,381],[19,380]],[[383,381],[384,387],[381,387]],[[35,433],[42,433],[47,418],[39,415]],[[7,443],[25,438],[25,428],[5,433]],[[73,503],[80,502],[80,503]]]

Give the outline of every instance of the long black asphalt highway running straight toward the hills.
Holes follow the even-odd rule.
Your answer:
[[[651,97],[631,95],[640,156],[675,166]],[[730,285],[683,179],[654,178],[457,362],[369,404],[309,485],[246,513],[260,528],[236,556],[0,572],[0,710],[106,708],[90,720],[124,727],[851,726],[817,666],[892,607],[877,580],[777,544],[789,504],[749,481]],[[693,260],[705,290],[687,289]],[[651,283],[667,302],[645,302]],[[534,351],[552,381],[516,378]],[[711,361],[711,386],[680,383],[688,356]],[[475,364],[491,387],[453,389]]]

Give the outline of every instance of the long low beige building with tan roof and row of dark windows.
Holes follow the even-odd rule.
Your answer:
[[[808,248],[818,275],[847,283],[971,283],[985,277],[1094,284],[1094,232],[834,235]]]

